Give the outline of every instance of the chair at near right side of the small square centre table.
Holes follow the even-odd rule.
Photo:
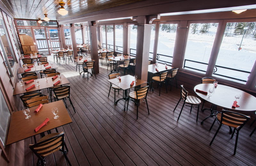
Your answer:
[[[138,106],[140,104],[140,99],[143,99],[143,100],[145,99],[144,101],[146,101],[147,108],[148,108],[147,95],[148,95],[148,86],[140,87],[136,91],[129,93],[126,110],[128,110],[130,98],[133,99],[133,101],[137,104],[137,119],[138,119]],[[148,109],[148,114],[149,114],[149,109]]]

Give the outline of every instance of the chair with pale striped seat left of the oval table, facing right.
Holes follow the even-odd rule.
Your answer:
[[[183,109],[183,107],[184,107],[185,104],[190,104],[190,105],[191,105],[191,107],[190,107],[190,112],[191,112],[191,110],[192,110],[192,107],[193,107],[194,105],[197,105],[197,115],[196,115],[196,122],[197,122],[197,119],[198,119],[198,111],[199,111],[199,105],[201,104],[201,100],[198,99],[198,98],[195,97],[195,96],[188,96],[188,91],[185,90],[185,88],[183,87],[183,85],[180,85],[180,87],[181,87],[181,95],[180,95],[180,100],[179,100],[179,102],[180,102],[180,101],[184,102],[183,105],[182,105],[182,107],[181,107],[181,110],[180,110],[180,115],[181,115],[182,109]],[[174,112],[175,109],[177,108],[179,102],[177,103],[177,105],[176,105],[176,107],[174,108],[173,112]],[[180,115],[179,115],[179,117],[178,117],[178,120],[179,120],[179,118],[180,118]],[[178,120],[177,120],[177,121],[178,121]]]

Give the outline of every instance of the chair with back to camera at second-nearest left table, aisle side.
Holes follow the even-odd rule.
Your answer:
[[[53,88],[52,91],[53,91],[54,101],[56,101],[56,100],[59,101],[62,99],[66,104],[66,108],[68,108],[67,103],[66,103],[66,97],[67,97],[76,113],[76,109],[74,108],[74,106],[71,102],[71,99],[70,99],[70,86],[69,85]]]

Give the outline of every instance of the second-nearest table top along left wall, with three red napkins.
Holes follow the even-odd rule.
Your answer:
[[[35,80],[26,84],[26,85],[23,82],[22,83],[24,85],[23,87],[21,87],[20,83],[17,82],[17,83],[15,83],[15,86],[14,86],[13,95],[23,94],[23,93],[26,93],[26,92],[32,92],[32,91],[35,91],[35,90],[41,90],[41,89],[45,89],[45,88],[48,88],[48,87],[53,87],[53,84],[60,80],[59,78],[56,78],[56,79],[52,80],[52,77],[48,77],[47,79],[48,79],[48,81],[45,81],[45,78],[39,79],[39,85],[40,86],[36,86],[32,89],[29,89],[28,91],[26,91],[26,88],[30,87],[33,84],[37,85]],[[59,84],[57,84],[56,86],[69,84],[68,79],[64,75],[61,75],[61,80],[62,81]]]

